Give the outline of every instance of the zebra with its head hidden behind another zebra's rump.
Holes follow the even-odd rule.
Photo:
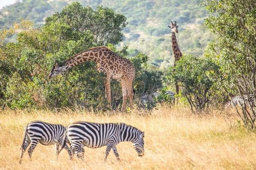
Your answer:
[[[24,130],[23,141],[20,148],[22,151],[19,162],[21,163],[22,156],[30,143],[31,146],[28,149],[28,153],[29,158],[31,159],[32,152],[36,148],[38,142],[43,145],[55,144],[57,159],[58,154],[61,152],[61,150],[59,150],[59,146],[63,146],[71,158],[72,153],[66,142],[64,141],[63,143],[63,137],[65,137],[65,126],[60,124],[48,124],[43,121],[31,121],[29,124],[27,124]]]

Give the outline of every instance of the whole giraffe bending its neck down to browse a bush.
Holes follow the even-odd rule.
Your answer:
[[[97,70],[99,72],[102,71],[106,75],[104,84],[106,97],[109,102],[108,107],[111,108],[110,79],[116,79],[118,81],[120,80],[123,93],[123,105],[121,112],[123,112],[126,107],[128,97],[130,99],[130,108],[132,109],[132,99],[134,95],[132,82],[135,77],[135,67],[132,65],[130,60],[120,57],[106,46],[99,46],[82,51],[73,57],[70,57],[63,65],[59,65],[58,61],[56,61],[56,65],[52,67],[48,79],[86,61],[96,62]]]

